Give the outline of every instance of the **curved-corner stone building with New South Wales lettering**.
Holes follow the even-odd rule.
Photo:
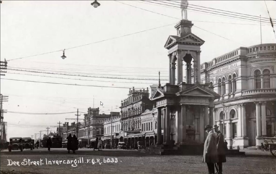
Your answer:
[[[260,147],[263,136],[275,136],[275,71],[276,44],[240,47],[200,65],[201,83],[209,83],[220,95],[209,113],[221,131],[224,105],[224,135],[230,149]]]

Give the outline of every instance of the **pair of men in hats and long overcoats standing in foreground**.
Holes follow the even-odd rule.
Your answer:
[[[204,129],[208,136],[204,143],[202,162],[207,163],[209,174],[215,173],[214,167],[217,174],[222,174],[222,162],[226,162],[224,136],[218,128],[217,125],[206,125]]]

